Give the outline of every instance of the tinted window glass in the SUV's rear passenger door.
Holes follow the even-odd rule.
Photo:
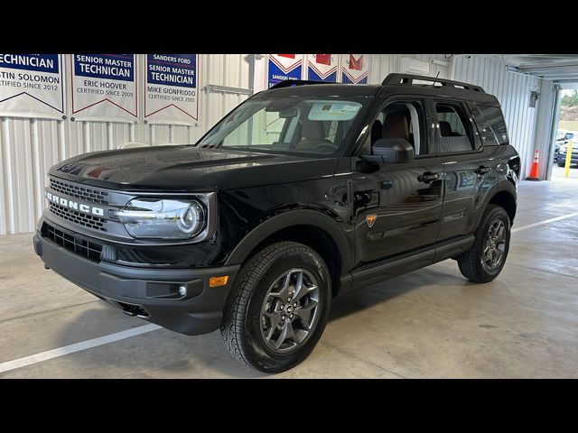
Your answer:
[[[440,153],[467,152],[473,149],[471,124],[460,104],[435,104]]]

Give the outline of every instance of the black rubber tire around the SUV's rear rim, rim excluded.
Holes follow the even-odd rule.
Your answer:
[[[501,262],[494,269],[489,269],[483,263],[484,248],[488,239],[489,228],[498,220],[504,223],[506,242]],[[473,282],[492,281],[499,275],[508,258],[510,223],[506,210],[498,205],[488,205],[484,215],[481,217],[480,226],[478,226],[475,236],[476,240],[470,250],[456,257],[461,275]]]

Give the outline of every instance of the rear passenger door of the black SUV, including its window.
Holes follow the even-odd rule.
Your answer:
[[[495,164],[461,101],[432,100],[437,155],[443,165],[443,207],[438,242],[470,234],[477,212],[498,180]]]

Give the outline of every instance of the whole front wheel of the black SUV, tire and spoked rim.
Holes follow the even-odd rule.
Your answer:
[[[310,247],[267,246],[238,273],[220,327],[235,359],[256,370],[280,373],[312,352],[331,302],[331,277]]]

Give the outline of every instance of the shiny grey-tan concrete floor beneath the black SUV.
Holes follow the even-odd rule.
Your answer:
[[[578,211],[578,180],[521,182],[516,227]],[[0,237],[0,363],[144,321],[51,271],[31,235]],[[335,299],[312,355],[290,372],[233,361],[218,332],[158,329],[0,373],[16,377],[578,377],[578,216],[512,235],[496,281],[452,260]]]

